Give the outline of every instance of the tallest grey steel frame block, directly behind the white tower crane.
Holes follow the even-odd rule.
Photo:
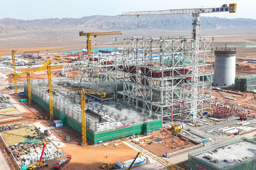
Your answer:
[[[116,70],[117,75],[122,75],[116,82],[123,82],[123,90],[117,92],[123,101],[158,112],[163,123],[172,122],[173,118],[190,119],[193,39],[124,39],[127,40],[130,43],[123,50],[123,59],[117,61],[120,69]],[[202,81],[197,86],[197,114],[202,116],[203,111],[210,108],[206,102],[210,101],[210,96],[203,93],[204,88],[211,88],[212,70],[206,72],[204,68],[212,68],[213,38],[201,38],[199,44],[199,67],[196,70]]]

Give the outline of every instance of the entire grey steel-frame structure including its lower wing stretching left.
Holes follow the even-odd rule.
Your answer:
[[[198,117],[210,108],[210,96],[204,95],[204,90],[211,88],[212,71],[205,68],[212,68],[213,39],[200,38],[199,42]],[[114,99],[142,107],[150,114],[160,114],[163,123],[183,121],[191,119],[192,43],[192,38],[184,37],[132,37],[124,39],[124,49],[118,54],[84,58],[64,66],[62,75],[77,70],[73,81],[79,88],[93,87],[88,82],[115,86],[109,91]]]

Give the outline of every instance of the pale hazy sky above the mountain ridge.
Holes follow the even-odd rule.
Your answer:
[[[91,15],[120,15],[130,11],[157,11],[197,7],[219,7],[237,3],[237,12],[202,14],[226,18],[256,19],[256,0],[1,0],[0,19],[33,20],[48,18],[81,18]]]

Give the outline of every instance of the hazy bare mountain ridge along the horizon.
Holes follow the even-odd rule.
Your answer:
[[[227,19],[218,17],[201,17],[204,30],[224,29],[234,27],[256,27],[254,19]],[[27,32],[41,29],[105,29],[105,30],[170,30],[189,31],[191,30],[191,15],[173,16],[140,16],[139,28],[136,16],[84,16],[82,18],[51,18],[42,20],[18,20],[4,18],[0,20],[0,34],[10,34],[16,32]]]

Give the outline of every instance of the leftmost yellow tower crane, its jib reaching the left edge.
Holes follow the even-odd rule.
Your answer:
[[[63,47],[59,48],[38,48],[38,49],[16,49],[16,50],[0,50],[0,58],[1,58],[1,52],[12,52],[12,66],[13,66],[13,78],[14,78],[14,88],[15,88],[15,93],[18,92],[17,90],[17,78],[16,78],[16,69],[15,69],[15,52],[24,52],[24,51],[49,51],[49,50],[64,50]]]

